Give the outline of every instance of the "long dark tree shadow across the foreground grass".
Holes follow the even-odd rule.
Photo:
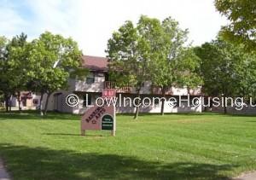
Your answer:
[[[0,154],[15,179],[227,179],[231,165],[139,160],[116,154],[76,153],[0,144]]]

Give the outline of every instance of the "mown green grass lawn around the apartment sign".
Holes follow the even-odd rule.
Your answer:
[[[117,116],[116,136],[79,136],[80,116],[0,113],[0,156],[15,179],[225,179],[256,169],[256,117]]]

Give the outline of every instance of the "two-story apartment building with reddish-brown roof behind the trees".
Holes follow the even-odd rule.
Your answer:
[[[82,57],[83,67],[90,69],[90,74],[84,78],[84,80],[78,79],[69,79],[69,89],[68,90],[59,90],[49,96],[48,109],[58,112],[66,113],[84,113],[88,107],[86,105],[93,105],[96,102],[96,98],[102,96],[102,90],[114,88],[116,90],[116,96],[131,97],[135,98],[136,91],[135,88],[127,86],[117,88],[114,82],[109,81],[108,78],[108,59],[105,57],[97,57],[84,55]],[[69,107],[66,104],[66,96],[69,94],[76,94],[79,96],[79,105],[76,107]],[[150,82],[145,82],[141,90],[142,98],[143,97],[161,97],[161,90],[158,87],[154,87]],[[166,99],[170,97],[178,98],[181,96],[186,99],[187,96],[193,98],[195,96],[201,96],[201,88],[195,90],[188,90],[184,88],[169,88],[166,90]],[[45,98],[43,98],[45,99]],[[45,102],[45,101],[44,101]],[[44,107],[43,102],[43,107]],[[143,113],[160,113],[160,103],[154,102],[154,106],[141,107],[140,112]],[[188,107],[187,102],[182,102],[179,106],[171,107],[168,105],[169,102],[165,102],[165,113],[179,113],[179,112],[201,112],[202,108],[199,107]],[[119,103],[116,106],[117,113],[134,113],[136,107],[133,106],[119,106]]]

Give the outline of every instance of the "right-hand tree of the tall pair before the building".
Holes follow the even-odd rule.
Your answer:
[[[195,53],[185,47],[188,30],[178,27],[176,20],[166,18],[161,23],[161,31],[156,37],[155,44],[157,61],[154,61],[152,82],[160,87],[162,96],[166,96],[166,88],[186,85],[193,88],[201,83],[201,78],[195,72],[199,67],[199,58]],[[153,42],[154,43],[154,42]],[[161,114],[164,114],[164,100],[161,103]]]

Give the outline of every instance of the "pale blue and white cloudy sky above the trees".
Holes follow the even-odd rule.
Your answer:
[[[32,40],[45,31],[60,33],[77,41],[84,55],[105,56],[112,33],[140,15],[172,16],[189,29],[193,45],[216,38],[227,24],[213,0],[0,0],[0,36],[25,32]]]

